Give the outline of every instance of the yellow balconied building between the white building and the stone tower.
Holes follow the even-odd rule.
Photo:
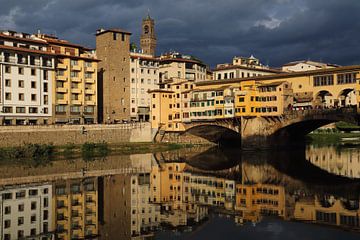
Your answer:
[[[54,123],[97,123],[97,63],[83,46],[38,34],[56,55],[53,84]]]

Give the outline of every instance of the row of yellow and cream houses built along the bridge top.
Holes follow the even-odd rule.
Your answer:
[[[157,114],[177,114],[179,118],[162,119],[165,131],[183,131],[184,123],[192,121],[214,121],[233,117],[273,117],[288,111],[339,108],[357,106],[359,108],[360,66],[338,67],[307,72],[282,73],[240,79],[225,79],[195,83],[193,89],[169,87],[175,96],[184,93],[176,102],[176,110],[157,109]],[[183,85],[181,85],[183,86]],[[166,101],[159,95],[158,103]],[[183,104],[181,104],[181,102]],[[174,102],[175,103],[175,102]],[[178,108],[180,106],[180,109]],[[186,107],[185,107],[186,106]],[[188,107],[190,106],[190,109]],[[171,113],[170,113],[170,112]],[[183,119],[181,113],[190,113]],[[177,115],[179,116],[179,115]],[[153,127],[158,126],[155,122]]]

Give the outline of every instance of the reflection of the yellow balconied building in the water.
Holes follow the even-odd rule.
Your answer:
[[[97,179],[72,179],[54,183],[53,229],[57,239],[98,235]]]

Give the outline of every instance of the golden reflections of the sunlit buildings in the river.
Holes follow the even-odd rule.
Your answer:
[[[343,171],[351,163],[350,177],[356,176],[354,152],[349,157],[330,148],[308,148],[306,154],[336,174],[351,173]],[[240,226],[276,216],[360,229],[359,194],[319,193],[266,162],[203,171],[144,154],[117,171],[48,175],[45,182],[31,184],[16,180],[0,193],[2,239],[148,239],[164,229],[192,231],[213,212],[233,217]]]

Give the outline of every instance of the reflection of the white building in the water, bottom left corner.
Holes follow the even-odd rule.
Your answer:
[[[25,185],[0,191],[1,239],[53,239],[52,185]]]

